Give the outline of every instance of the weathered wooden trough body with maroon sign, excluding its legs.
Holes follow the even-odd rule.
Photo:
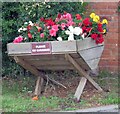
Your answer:
[[[7,48],[8,55],[19,56],[40,70],[74,69],[65,58],[67,53],[88,70],[97,68],[104,45],[97,45],[91,38],[86,38],[79,41],[9,43]]]

